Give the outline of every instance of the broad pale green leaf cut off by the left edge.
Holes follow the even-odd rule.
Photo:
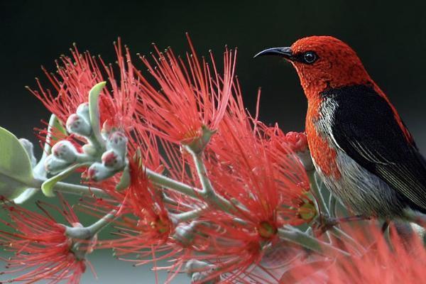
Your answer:
[[[35,187],[28,153],[13,133],[0,127],[0,195],[9,200]]]

